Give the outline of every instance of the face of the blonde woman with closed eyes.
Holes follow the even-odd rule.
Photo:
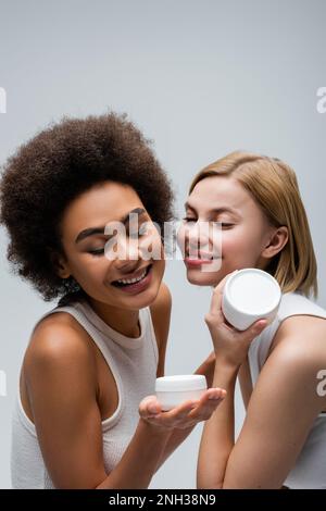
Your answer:
[[[200,180],[185,208],[178,244],[191,284],[215,286],[235,270],[266,266],[264,249],[275,227],[235,178],[211,176]]]

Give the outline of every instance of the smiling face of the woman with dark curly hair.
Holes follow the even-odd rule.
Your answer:
[[[104,234],[105,226],[111,235]],[[121,230],[113,236],[115,227]],[[164,251],[133,188],[113,182],[93,186],[70,203],[60,228],[66,256],[59,260],[62,278],[72,275],[89,297],[116,308],[139,310],[152,303],[164,273]]]

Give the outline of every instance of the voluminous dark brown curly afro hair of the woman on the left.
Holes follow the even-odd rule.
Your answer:
[[[109,112],[65,116],[8,159],[0,183],[0,223],[10,236],[7,258],[45,301],[62,297],[62,304],[84,294],[72,276],[57,274],[53,253],[64,256],[59,226],[65,208],[93,185],[127,184],[161,229],[173,220],[172,185],[150,145],[126,114]]]

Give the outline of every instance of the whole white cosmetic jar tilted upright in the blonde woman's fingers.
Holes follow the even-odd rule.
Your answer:
[[[281,299],[278,282],[262,270],[248,267],[233,273],[226,281],[222,311],[238,331],[246,331],[258,320],[271,323]]]

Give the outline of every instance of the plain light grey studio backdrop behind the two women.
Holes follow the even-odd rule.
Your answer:
[[[277,155],[297,171],[325,285],[326,85],[323,0],[0,1],[1,163],[62,115],[127,112],[154,140],[179,212],[193,174],[234,149]],[[0,230],[0,487],[10,487],[10,414],[18,369],[45,303],[9,273]],[[195,370],[211,350],[203,324],[210,289],[166,271],[174,309],[166,374]],[[237,431],[243,409],[237,401]],[[153,488],[195,487],[201,426],[153,477]]]

